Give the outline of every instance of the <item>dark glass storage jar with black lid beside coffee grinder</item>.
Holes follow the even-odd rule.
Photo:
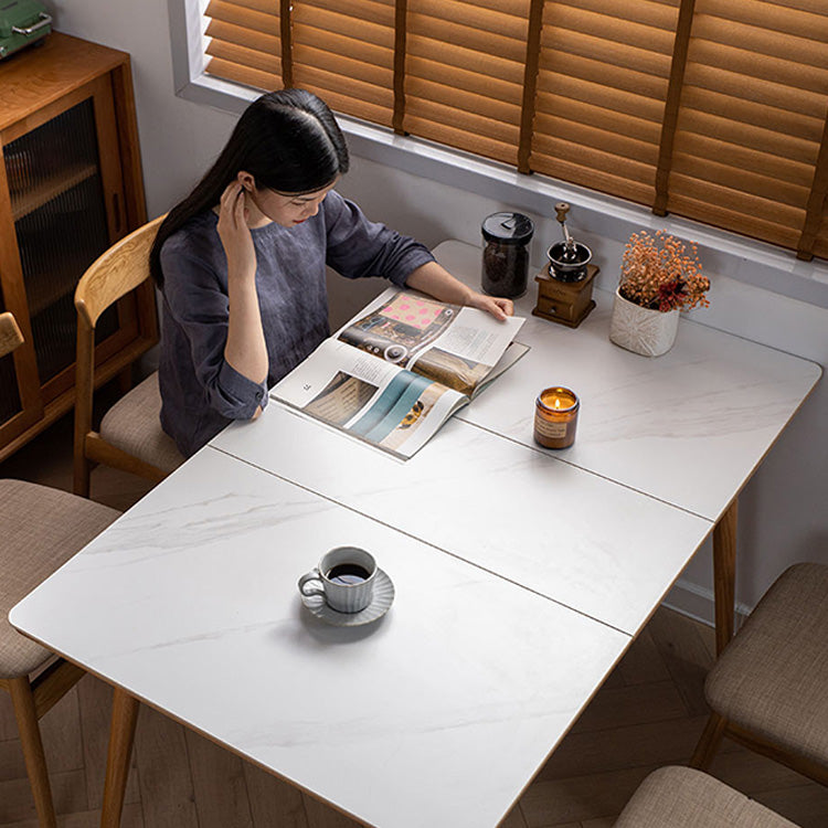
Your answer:
[[[492,213],[481,225],[485,242],[480,283],[489,296],[508,299],[527,291],[529,243],[534,224],[523,213]]]

